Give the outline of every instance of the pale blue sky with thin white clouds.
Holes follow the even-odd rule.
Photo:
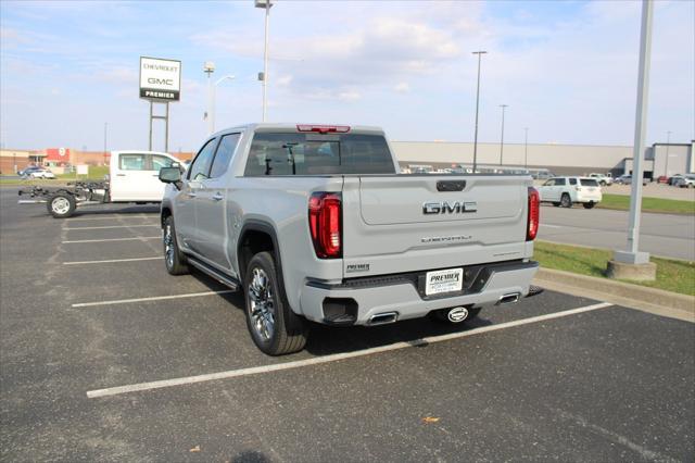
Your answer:
[[[278,0],[268,120],[383,126],[395,140],[632,145],[641,4]],[[695,2],[655,8],[647,142],[695,138]],[[169,150],[206,136],[204,61],[217,128],[261,118],[263,11],[253,2],[0,2],[4,147],[146,148],[140,55],[181,60]],[[163,127],[155,148],[163,148]]]

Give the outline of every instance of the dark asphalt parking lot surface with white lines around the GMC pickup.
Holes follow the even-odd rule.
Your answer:
[[[316,326],[268,358],[239,295],[166,274],[156,208],[56,221],[14,195],[2,461],[695,459],[694,324],[545,292],[465,328]]]

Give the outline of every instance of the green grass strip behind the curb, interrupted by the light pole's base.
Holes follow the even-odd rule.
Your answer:
[[[606,264],[612,258],[612,251],[595,248],[580,248],[535,241],[534,259],[545,268],[555,268],[580,275],[607,278]],[[648,286],[681,295],[695,296],[695,262],[652,258],[656,264],[655,281],[631,281],[633,285]]]

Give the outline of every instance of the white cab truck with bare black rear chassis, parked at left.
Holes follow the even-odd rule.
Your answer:
[[[67,186],[31,186],[20,190],[21,204],[46,203],[56,218],[70,217],[78,205],[112,202],[159,203],[164,187],[159,179],[162,167],[180,165],[170,154],[156,151],[112,151],[109,178],[103,182],[74,182]]]

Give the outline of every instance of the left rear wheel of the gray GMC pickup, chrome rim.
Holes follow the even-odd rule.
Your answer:
[[[247,327],[256,347],[268,355],[299,352],[308,336],[306,321],[292,312],[279,278],[273,254],[258,252],[243,279]]]

